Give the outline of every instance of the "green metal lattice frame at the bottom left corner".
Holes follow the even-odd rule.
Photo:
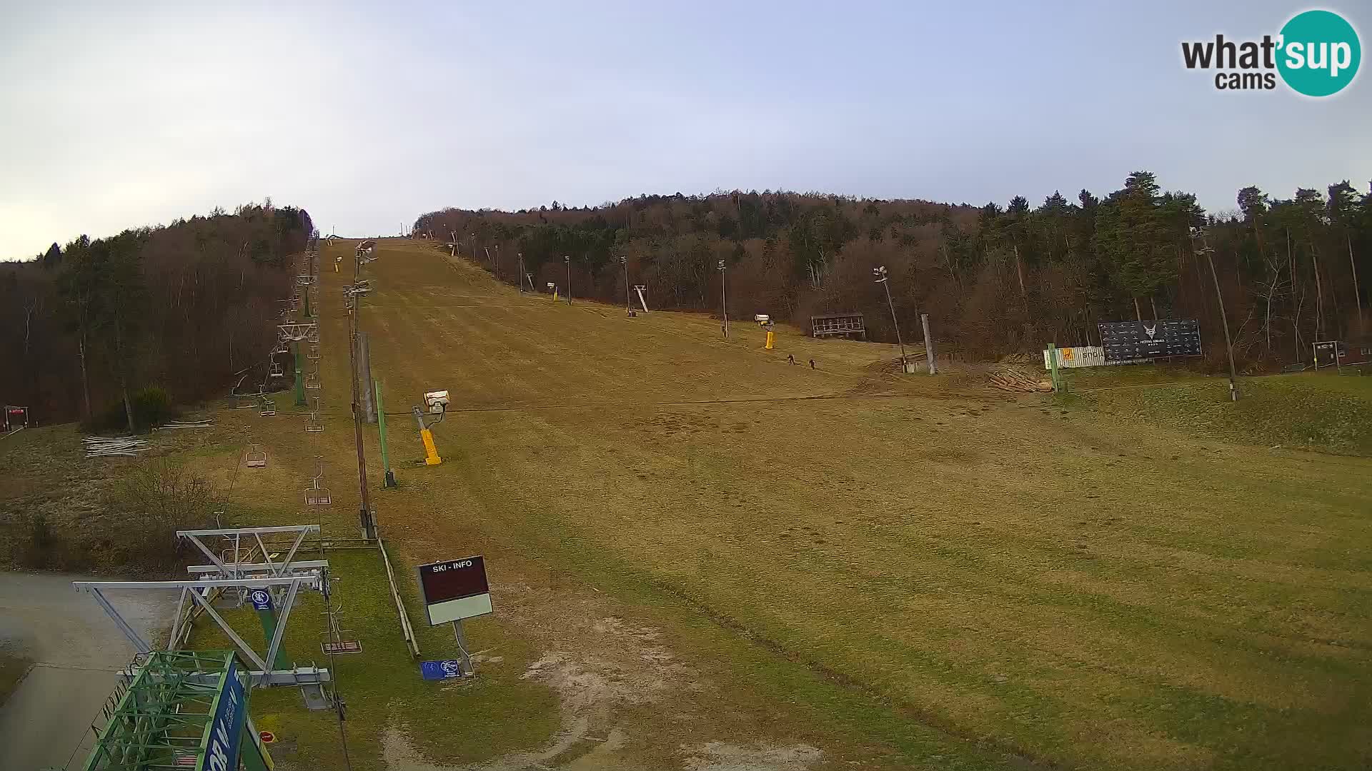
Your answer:
[[[150,653],[97,731],[85,771],[199,767],[232,663],[232,650]],[[243,693],[247,709],[251,689]]]

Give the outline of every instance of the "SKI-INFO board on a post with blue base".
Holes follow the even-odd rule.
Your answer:
[[[493,613],[491,587],[486,578],[486,560],[480,556],[420,565],[420,594],[424,613],[431,627],[453,624],[453,638],[461,660],[424,661],[420,671],[425,679],[447,679],[473,675],[472,654],[462,619]]]

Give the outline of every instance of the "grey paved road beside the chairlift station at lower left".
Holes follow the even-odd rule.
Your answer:
[[[0,768],[80,768],[91,752],[91,722],[115,686],[133,646],[95,600],[71,589],[84,576],[0,572],[0,645],[34,661],[0,707]],[[132,626],[156,639],[176,594],[108,593]]]

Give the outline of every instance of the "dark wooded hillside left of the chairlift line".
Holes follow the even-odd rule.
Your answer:
[[[266,361],[311,232],[268,200],[0,263],[0,401],[56,423],[118,416],[151,386],[222,395]]]

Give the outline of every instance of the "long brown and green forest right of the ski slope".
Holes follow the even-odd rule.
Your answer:
[[[723,259],[730,316],[770,313],[805,327],[811,314],[863,311],[870,335],[895,340],[873,268],[885,265],[907,339],[927,313],[934,336],[970,357],[1099,344],[1111,320],[1199,318],[1222,361],[1220,291],[1244,365],[1309,358],[1324,339],[1364,335],[1372,280],[1372,196],[1347,182],[1273,199],[1243,188],[1236,209],[1207,214],[1185,192],[1136,171],[1103,196],[1017,196],[981,207],[793,192],[639,196],[589,209],[446,209],[417,235],[456,237],[458,251],[509,281],[517,255],[542,288],[624,302],[646,284],[664,309],[718,313]],[[1198,239],[1199,228],[1205,239]],[[1360,277],[1362,283],[1360,283]]]

